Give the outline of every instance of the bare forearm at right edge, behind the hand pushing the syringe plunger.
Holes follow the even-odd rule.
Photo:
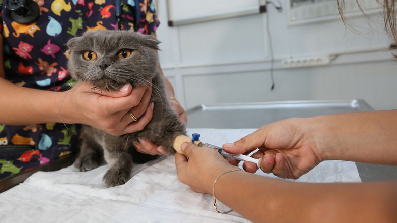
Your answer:
[[[309,118],[325,160],[397,164],[397,110]]]

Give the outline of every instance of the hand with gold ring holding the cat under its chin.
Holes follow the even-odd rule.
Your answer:
[[[153,116],[151,95],[152,89],[146,85],[134,89],[125,85],[119,91],[108,92],[95,89],[89,82],[78,82],[64,92],[60,118],[65,123],[87,124],[112,135],[140,131]],[[130,113],[138,119],[136,122]]]

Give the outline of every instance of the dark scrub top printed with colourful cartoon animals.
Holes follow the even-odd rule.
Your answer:
[[[66,42],[87,30],[118,27],[115,0],[35,0],[40,16],[31,24],[13,21],[5,1],[0,0],[4,69],[8,80],[23,87],[47,91],[72,87],[74,81],[66,66]],[[123,30],[155,33],[159,21],[152,0],[121,0],[120,9]],[[0,145],[31,145],[27,151],[0,148],[0,179],[78,150],[79,138],[78,124],[0,123]]]

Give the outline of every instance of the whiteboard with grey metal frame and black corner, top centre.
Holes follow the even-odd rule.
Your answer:
[[[168,25],[186,25],[266,12],[266,0],[168,0]]]

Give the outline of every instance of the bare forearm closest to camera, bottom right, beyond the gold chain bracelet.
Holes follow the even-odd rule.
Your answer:
[[[237,171],[221,176],[215,193],[218,200],[253,222],[392,222],[396,186],[297,183]]]

